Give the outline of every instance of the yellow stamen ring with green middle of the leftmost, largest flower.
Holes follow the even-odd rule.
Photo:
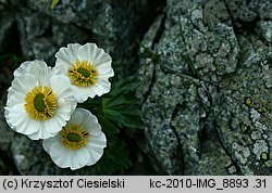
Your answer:
[[[48,87],[35,87],[25,97],[25,111],[35,120],[47,120],[53,116],[57,98]]]

